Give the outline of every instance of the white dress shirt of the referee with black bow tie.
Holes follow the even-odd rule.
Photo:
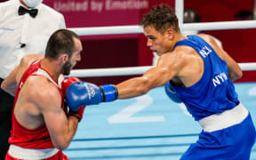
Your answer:
[[[27,54],[41,53],[49,37],[59,28],[66,28],[60,12],[45,4],[36,6],[38,13],[32,18],[28,13],[18,14],[19,0],[0,3],[0,77],[8,76],[20,59]],[[25,47],[20,47],[26,44]]]

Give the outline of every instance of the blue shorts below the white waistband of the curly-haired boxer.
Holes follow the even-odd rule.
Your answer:
[[[241,115],[241,110],[237,114],[239,112]],[[228,123],[232,121],[232,118],[231,120],[227,116],[225,118]],[[256,131],[252,123],[252,117],[250,113],[247,113],[244,120],[239,124],[213,132],[203,130],[199,134],[199,140],[190,145],[180,160],[249,160],[255,138]]]

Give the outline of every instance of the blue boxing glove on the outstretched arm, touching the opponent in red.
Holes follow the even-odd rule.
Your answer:
[[[118,97],[116,85],[106,84],[97,86],[87,82],[74,82],[68,86],[66,100],[68,107],[77,110],[80,106],[99,104],[113,101]]]

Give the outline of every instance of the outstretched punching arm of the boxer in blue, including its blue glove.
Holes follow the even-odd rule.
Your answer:
[[[118,99],[129,99],[145,94],[152,88],[166,84],[180,69],[184,68],[190,57],[182,52],[167,53],[159,58],[157,66],[150,68],[143,76],[124,81],[121,84],[97,86],[87,82],[70,84],[66,92],[69,108],[79,108]],[[164,58],[162,58],[164,57]]]

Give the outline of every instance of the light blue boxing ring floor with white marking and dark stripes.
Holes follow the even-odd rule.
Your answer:
[[[256,126],[256,83],[235,86]],[[138,98],[86,107],[64,153],[70,160],[178,160],[199,132],[184,105],[169,100],[164,87],[158,87]]]

